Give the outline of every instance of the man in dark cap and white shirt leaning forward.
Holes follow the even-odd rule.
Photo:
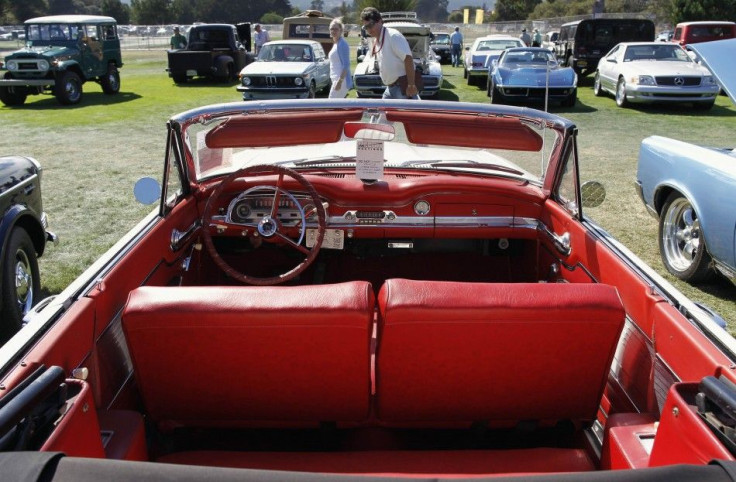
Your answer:
[[[373,37],[368,55],[378,64],[381,81],[386,86],[384,99],[419,99],[414,58],[409,42],[401,32],[383,26],[381,12],[367,7],[360,13],[365,31]]]

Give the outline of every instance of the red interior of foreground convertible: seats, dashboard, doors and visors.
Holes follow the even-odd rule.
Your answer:
[[[238,112],[205,143],[336,142],[364,109],[319,114]],[[544,144],[521,116],[384,114],[417,145]],[[286,119],[301,126],[288,141]],[[388,134],[381,125],[375,133]],[[547,147],[568,152],[567,139]],[[38,449],[163,462],[164,471],[567,480],[734,460],[699,415],[698,393],[703,374],[736,382],[736,365],[555,197],[551,174],[569,166],[552,163],[546,184],[496,167],[492,175],[387,167],[375,183],[343,166],[302,167],[325,208],[325,236],[342,237],[279,286],[236,282],[202,233],[234,270],[287,273],[306,248],[222,224],[255,186],[303,196],[295,178],[233,179],[207,208],[208,223],[215,179],[184,179],[184,191],[196,188],[162,205],[111,249],[114,263],[91,267],[91,281],[70,288],[71,307],[0,381],[0,408],[8,390],[59,367],[65,410]],[[417,208],[423,203],[428,211]],[[298,235],[299,213],[288,214],[274,224]],[[398,221],[377,221],[383,216]]]

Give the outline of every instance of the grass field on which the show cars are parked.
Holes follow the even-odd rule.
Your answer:
[[[196,106],[240,100],[234,83],[174,85],[164,70],[164,50],[126,50],[123,60],[117,96],[88,83],[77,106],[62,107],[49,95],[31,96],[20,108],[0,106],[0,154],[33,156],[44,167],[44,207],[61,240],[40,260],[46,295],[65,288],[151,210],[135,202],[132,188],[139,177],[161,178],[167,119]],[[444,67],[440,98],[488,102],[485,88],[468,86],[462,72]],[[656,221],[634,191],[642,139],[658,134],[734,147],[736,108],[721,96],[709,112],[690,106],[619,109],[612,98],[593,96],[591,85],[591,78],[581,79],[574,108],[550,109],[578,125],[584,176],[607,187],[605,203],[589,214],[690,298],[721,313],[736,333],[736,287],[725,279],[692,287],[667,274]]]

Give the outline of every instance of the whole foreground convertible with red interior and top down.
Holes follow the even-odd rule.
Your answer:
[[[0,348],[0,473],[731,480],[736,344],[586,217],[576,135],[411,100],[174,116],[155,210]]]

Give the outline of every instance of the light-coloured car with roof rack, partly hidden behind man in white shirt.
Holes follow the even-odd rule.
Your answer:
[[[389,14],[392,12],[388,12]],[[402,13],[402,12],[395,12]],[[403,12],[406,13],[406,12]],[[384,25],[401,32],[411,47],[414,65],[422,72],[423,86],[420,88],[421,98],[437,97],[442,87],[442,65],[438,56],[430,48],[430,28],[417,22],[416,15],[393,17],[383,14]],[[378,71],[378,63],[371,55],[372,39],[368,39],[368,47],[362,61],[355,68],[353,85],[358,97],[381,97],[386,90]]]

